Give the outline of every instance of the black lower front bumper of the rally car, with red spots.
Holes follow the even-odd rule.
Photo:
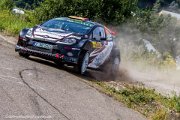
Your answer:
[[[78,63],[78,58],[75,58],[75,57],[69,57],[63,54],[59,54],[59,53],[47,53],[47,52],[37,51],[37,50],[29,49],[27,47],[22,47],[19,45],[16,45],[15,51],[23,52],[32,56],[37,56],[44,59],[59,61],[63,63],[72,63],[72,64]]]

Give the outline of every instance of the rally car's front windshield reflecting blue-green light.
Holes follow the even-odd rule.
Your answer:
[[[45,22],[41,26],[48,29],[60,29],[77,34],[86,34],[91,29],[93,24],[79,20],[53,19]]]

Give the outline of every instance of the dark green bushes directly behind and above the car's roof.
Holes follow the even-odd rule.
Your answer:
[[[121,23],[131,16],[131,11],[136,10],[136,4],[137,0],[45,0],[36,9],[35,16],[40,21],[76,15],[106,23]]]

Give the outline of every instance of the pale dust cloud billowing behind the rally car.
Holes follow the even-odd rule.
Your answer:
[[[166,34],[166,39],[161,40],[161,43],[158,43],[158,45],[153,45],[152,43],[152,45],[161,55],[159,56],[154,54],[156,57],[147,59],[145,56],[147,49],[145,48],[145,43],[142,41],[142,39],[146,39],[151,42],[153,41],[153,37],[148,34],[141,34],[140,31],[129,28],[126,25],[121,26],[121,29],[118,31],[119,35],[116,39],[121,52],[121,64],[119,66],[119,72],[117,73],[115,81],[142,83],[145,86],[151,87],[165,94],[172,92],[179,94],[180,70],[176,70],[176,68],[159,68],[159,66],[155,64],[158,60],[163,59],[163,52],[169,52],[171,47],[175,53],[173,54],[174,59],[178,55],[178,51],[180,49],[179,38],[173,39],[170,37],[170,41],[168,41],[168,32],[172,31],[164,31],[164,33],[161,32],[161,34]],[[173,43],[174,46],[165,47],[165,45],[169,44],[171,40],[176,42]],[[91,72],[91,76],[100,81],[112,81],[112,76],[109,74],[109,71],[106,71],[105,73]]]

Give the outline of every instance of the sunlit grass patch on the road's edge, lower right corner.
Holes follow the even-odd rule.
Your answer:
[[[124,85],[122,89],[116,89],[108,83],[92,82],[103,93],[124,103],[129,108],[135,109],[152,120],[179,119],[180,97],[165,97],[155,90],[143,86]]]

